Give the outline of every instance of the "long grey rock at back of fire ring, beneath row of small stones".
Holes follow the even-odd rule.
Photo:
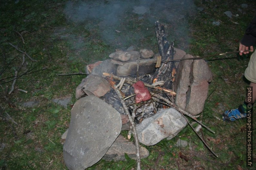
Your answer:
[[[139,64],[139,74],[148,74],[155,71],[156,58],[141,59]],[[137,61],[126,62],[123,66],[118,66],[117,76],[135,75],[137,71]]]

